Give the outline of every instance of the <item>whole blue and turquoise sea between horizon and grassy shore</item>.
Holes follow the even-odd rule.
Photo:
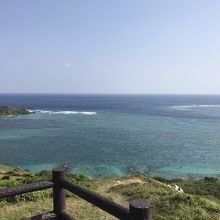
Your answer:
[[[220,96],[0,95],[0,163],[91,177],[220,176]]]

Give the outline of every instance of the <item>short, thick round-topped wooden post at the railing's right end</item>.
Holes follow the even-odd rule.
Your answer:
[[[130,220],[152,220],[150,215],[150,204],[146,200],[135,199],[129,203]]]

